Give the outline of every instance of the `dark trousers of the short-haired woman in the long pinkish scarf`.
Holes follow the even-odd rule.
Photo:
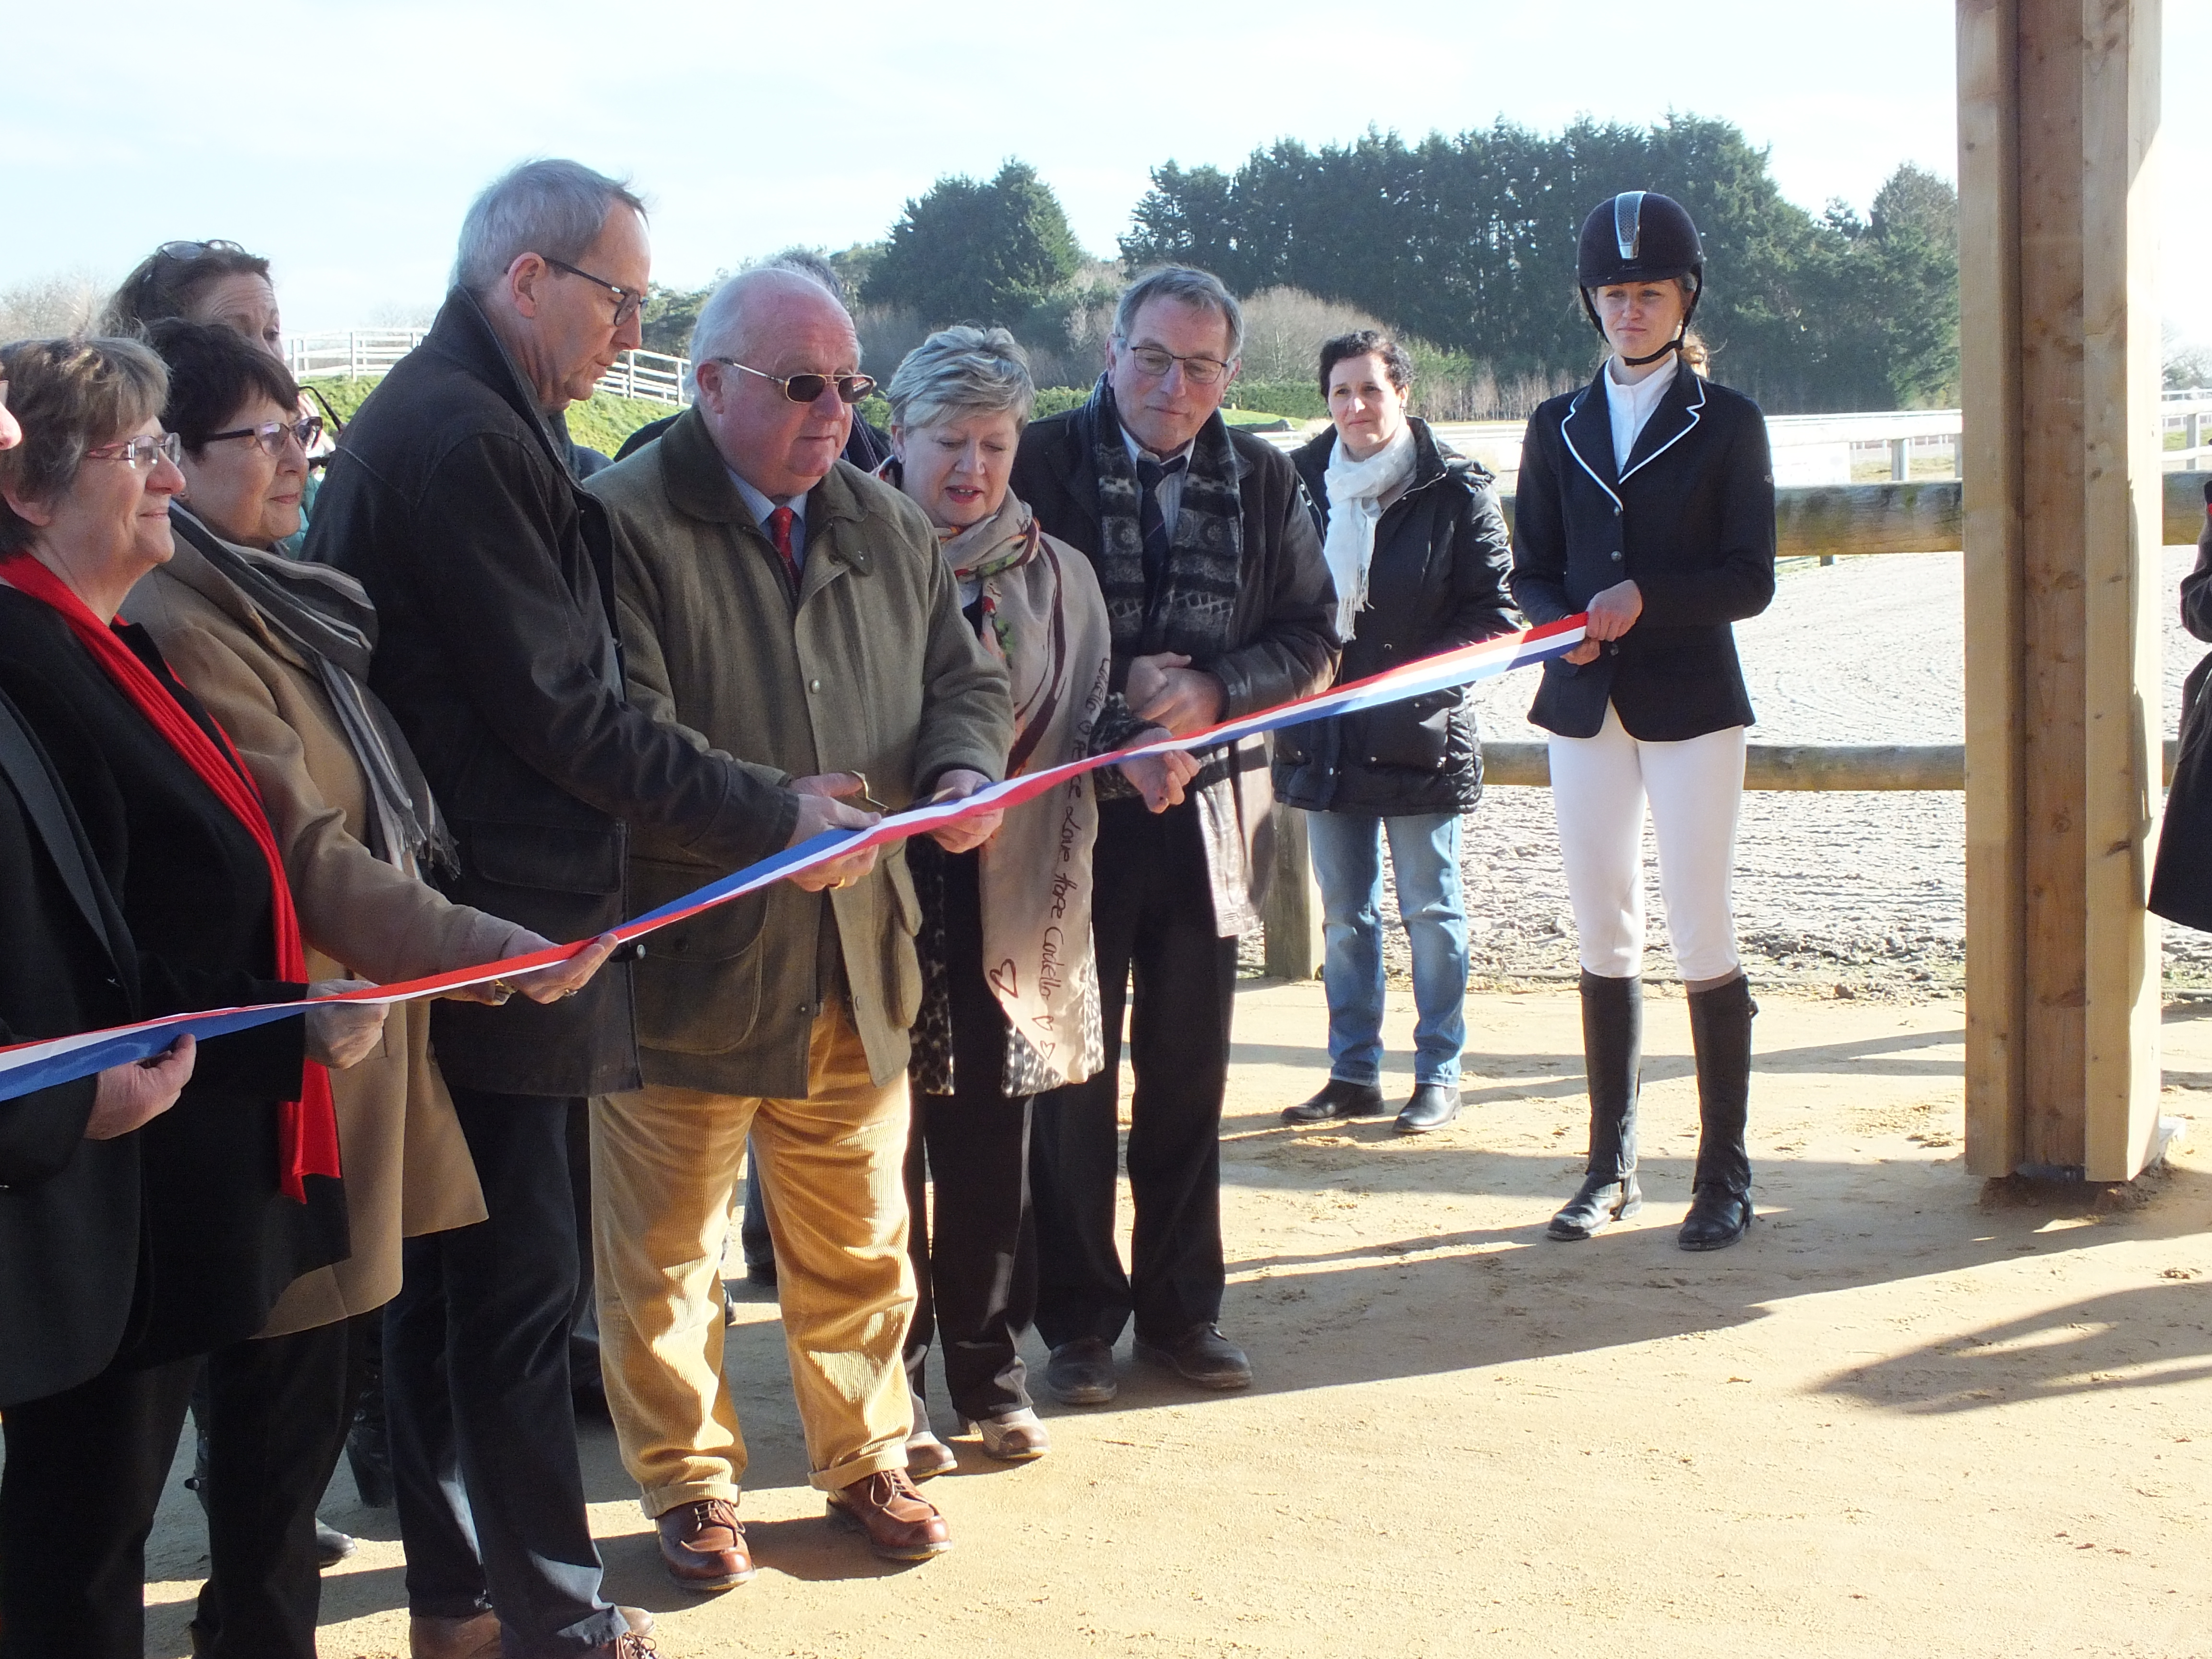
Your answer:
[[[956,1093],[916,1093],[907,1130],[907,1252],[916,1292],[907,1389],[916,1429],[929,1427],[922,1371],[931,1334],[945,1347],[945,1391],[956,1413],[980,1422],[1026,1409],[1018,1345],[1037,1310],[1029,1095],[1002,1093],[1006,1013],[982,978],[980,865],[975,854],[942,863]]]

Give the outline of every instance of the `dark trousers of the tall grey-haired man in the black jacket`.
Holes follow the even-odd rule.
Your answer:
[[[511,1659],[584,1652],[626,1628],[599,1597],[568,1398],[568,1106],[453,1091],[489,1219],[409,1239],[385,1310],[407,1606],[451,1619],[498,1608]]]

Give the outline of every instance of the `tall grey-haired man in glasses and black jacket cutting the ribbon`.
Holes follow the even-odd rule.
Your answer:
[[[549,938],[630,914],[633,834],[743,865],[869,823],[695,745],[622,677],[606,511],[560,411],[639,343],[646,217],[615,179],[531,161],[460,232],[425,343],[347,425],[307,557],[376,602],[372,686],[453,825],[467,905]],[[575,998],[440,1002],[431,1042],[489,1219],[407,1241],[385,1389],[416,1659],[635,1655],[599,1595],[568,1396],[568,1115],[639,1084],[630,973]],[[504,1648],[502,1648],[504,1641]]]

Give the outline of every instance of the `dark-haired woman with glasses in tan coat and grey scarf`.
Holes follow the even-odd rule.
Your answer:
[[[352,577],[274,553],[299,526],[314,429],[294,414],[292,376],[221,325],[164,321],[148,341],[168,363],[161,420],[181,445],[184,491],[168,507],[175,555],[131,591],[124,615],[252,774],[310,973],[411,980],[542,949],[531,929],[449,905],[422,880],[451,845],[407,741],[363,684],[376,615]],[[538,1002],[566,995],[611,945],[515,989]],[[201,1655],[314,1652],[319,1588],[303,1546],[358,1391],[369,1332],[349,1321],[398,1294],[403,1237],[484,1219],[429,1060],[427,1002],[394,1009],[378,1053],[334,1077],[332,1095],[352,1254],[296,1279],[257,1340],[208,1363]],[[281,1413],[268,1409],[276,1400]]]

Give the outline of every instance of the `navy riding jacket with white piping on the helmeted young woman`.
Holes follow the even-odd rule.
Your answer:
[[[1630,737],[1677,743],[1752,723],[1732,622],[1774,599],[1774,462],[1741,392],[1688,363],[1615,473],[1597,380],[1540,405],[1513,495],[1513,597],[1528,622],[1571,617],[1632,580],[1644,615],[1593,664],[1544,664],[1528,719],[1597,737],[1606,703]]]

